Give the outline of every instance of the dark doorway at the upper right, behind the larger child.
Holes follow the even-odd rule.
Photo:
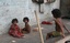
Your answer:
[[[70,18],[70,0],[60,0],[60,10],[63,18]]]

